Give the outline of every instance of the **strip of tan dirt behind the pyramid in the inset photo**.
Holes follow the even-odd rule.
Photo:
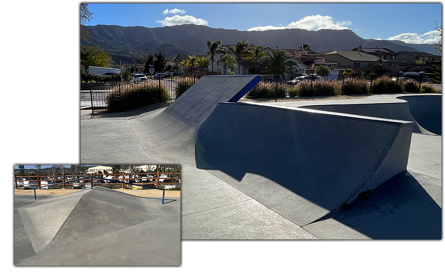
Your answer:
[[[162,197],[161,190],[132,190],[132,189],[113,189],[115,191],[127,193],[134,196]],[[80,189],[39,189],[37,195],[63,195],[71,192],[80,191]],[[34,194],[33,190],[14,189],[14,194]],[[165,191],[166,197],[180,197],[180,191]]]

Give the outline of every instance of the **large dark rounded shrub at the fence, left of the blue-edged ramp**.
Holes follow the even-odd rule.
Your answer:
[[[146,81],[132,83],[130,88],[121,88],[121,92],[113,91],[108,95],[108,111],[123,112],[148,105],[167,102],[168,90],[164,85],[148,85]]]

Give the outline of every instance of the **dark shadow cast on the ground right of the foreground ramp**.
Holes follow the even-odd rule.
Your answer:
[[[441,239],[442,208],[410,173],[377,187],[330,218],[373,239]],[[323,226],[324,221],[317,222]],[[317,226],[317,223],[308,226]]]

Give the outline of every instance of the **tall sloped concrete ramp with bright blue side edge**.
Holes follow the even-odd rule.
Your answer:
[[[192,133],[218,102],[237,102],[261,78],[255,76],[203,76],[162,113],[129,120],[145,150],[170,145]]]

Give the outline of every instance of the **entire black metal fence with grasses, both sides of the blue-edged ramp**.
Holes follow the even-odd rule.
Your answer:
[[[91,109],[122,112],[160,103],[172,102],[201,76],[178,76],[146,79],[120,85],[90,86]],[[421,76],[329,75],[299,79],[291,75],[263,75],[261,81],[244,98],[278,98],[296,96],[379,94],[420,92],[421,83],[433,79]]]

